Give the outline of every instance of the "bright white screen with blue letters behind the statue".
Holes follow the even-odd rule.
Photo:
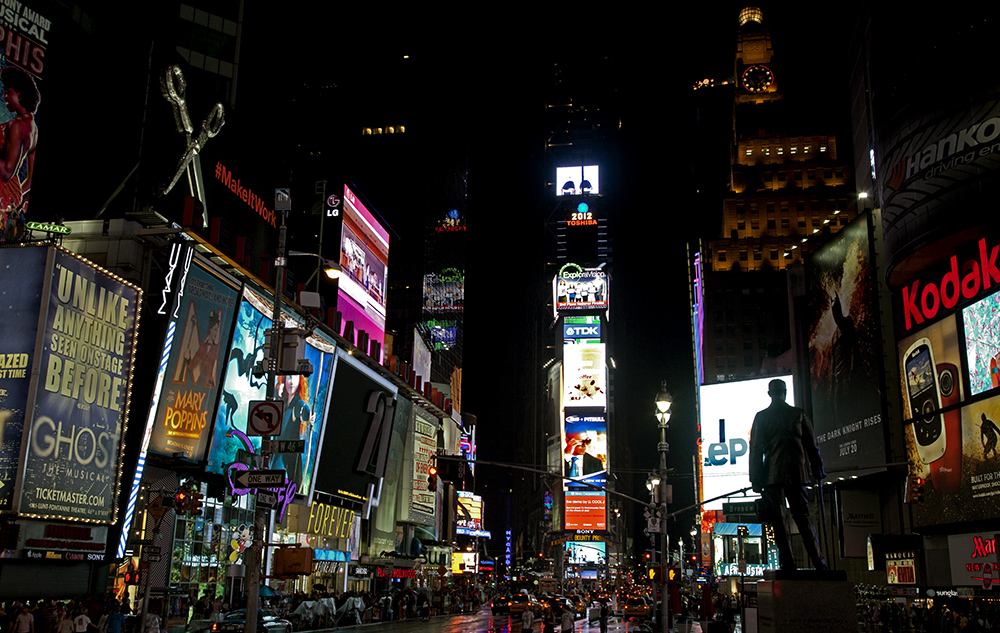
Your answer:
[[[791,376],[771,376],[699,387],[701,403],[701,499],[712,499],[750,487],[750,429],[758,411],[771,405],[767,383],[780,378],[788,389],[786,402],[795,406]],[[825,455],[824,455],[825,458]],[[750,496],[756,496],[748,491]],[[742,497],[739,497],[742,498]],[[724,499],[706,503],[721,510]]]

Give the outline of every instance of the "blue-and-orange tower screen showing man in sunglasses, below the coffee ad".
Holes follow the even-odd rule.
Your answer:
[[[563,420],[564,525],[607,529],[608,425],[603,409],[568,409]],[[595,488],[598,486],[599,488]]]

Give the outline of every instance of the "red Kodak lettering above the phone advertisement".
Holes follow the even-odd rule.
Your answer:
[[[958,266],[958,255],[952,255],[950,268],[938,283],[930,282],[921,286],[917,279],[910,286],[903,287],[903,320],[906,329],[933,319],[942,308],[950,310],[958,305],[960,298],[972,299],[981,290],[989,290],[1000,284],[1000,268],[997,268],[997,253],[1000,245],[989,252],[986,238],[979,240],[979,259],[968,259]]]

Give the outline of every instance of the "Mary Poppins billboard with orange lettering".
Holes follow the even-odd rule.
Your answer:
[[[186,263],[186,269],[175,271],[184,283],[170,315],[173,343],[149,450],[201,461],[212,431],[239,287],[200,257]]]

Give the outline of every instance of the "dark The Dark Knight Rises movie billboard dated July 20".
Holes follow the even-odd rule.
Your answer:
[[[868,216],[813,253],[805,317],[813,427],[830,475],[885,466],[882,345]]]

